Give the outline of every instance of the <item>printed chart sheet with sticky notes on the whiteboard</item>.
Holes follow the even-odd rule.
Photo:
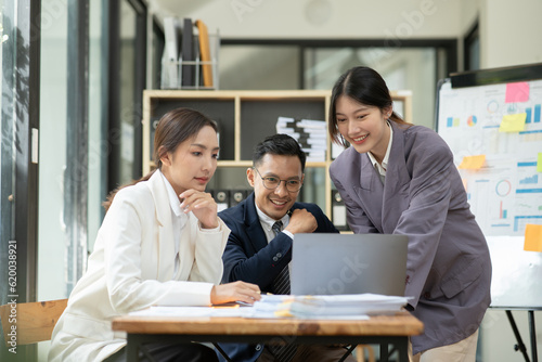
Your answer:
[[[438,131],[454,154],[470,209],[486,235],[542,224],[542,81],[439,91]],[[481,167],[462,167],[483,156]]]

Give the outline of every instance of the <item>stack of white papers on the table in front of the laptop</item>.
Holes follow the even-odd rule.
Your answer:
[[[409,298],[377,294],[335,296],[262,296],[254,305],[259,318],[294,316],[304,319],[360,319],[370,314],[400,311]]]

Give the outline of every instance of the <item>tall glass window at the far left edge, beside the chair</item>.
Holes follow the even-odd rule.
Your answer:
[[[39,137],[38,1],[0,1],[0,303],[36,298]],[[35,360],[18,347],[17,361]],[[5,344],[0,360],[13,358]]]

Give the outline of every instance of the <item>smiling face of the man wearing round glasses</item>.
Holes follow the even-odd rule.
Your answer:
[[[280,220],[296,202],[299,190],[288,192],[284,181],[281,181],[279,188],[269,190],[263,186],[261,178],[302,180],[301,161],[297,156],[266,154],[255,167],[261,177],[254,168],[249,168],[246,174],[248,183],[254,188],[256,206],[270,218]]]

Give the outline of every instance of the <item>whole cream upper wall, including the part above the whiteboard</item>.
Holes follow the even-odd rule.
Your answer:
[[[223,38],[461,39],[479,16],[481,67],[542,62],[540,0],[154,0]],[[460,54],[461,55],[461,54]],[[462,64],[462,62],[460,62]]]

